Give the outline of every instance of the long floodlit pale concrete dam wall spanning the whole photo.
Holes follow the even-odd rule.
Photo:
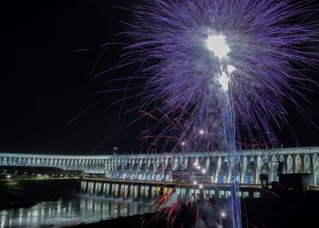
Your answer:
[[[171,182],[187,172],[190,181],[242,184],[260,183],[260,174],[278,181],[279,174],[310,173],[311,184],[319,186],[319,147],[240,150],[237,158],[236,177],[233,160],[222,151],[92,156],[0,153],[0,166],[52,167],[127,181]]]

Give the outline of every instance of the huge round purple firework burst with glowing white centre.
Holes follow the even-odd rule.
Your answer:
[[[316,64],[304,44],[315,42],[317,31],[314,23],[301,23],[314,7],[282,0],[144,2],[133,9],[128,34],[136,42],[127,47],[126,65],[140,63],[139,76],[149,78],[139,109],[160,110],[169,123],[157,139],[178,135],[176,145],[197,150],[205,135],[222,145],[221,113],[230,90],[237,139],[258,130],[274,141],[270,122],[286,122],[283,101],[297,105],[292,91],[302,95],[297,88],[309,80],[293,65]]]

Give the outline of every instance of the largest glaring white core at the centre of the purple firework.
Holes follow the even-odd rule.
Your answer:
[[[226,37],[221,35],[208,36],[206,47],[219,59],[227,57],[231,48],[226,43]]]

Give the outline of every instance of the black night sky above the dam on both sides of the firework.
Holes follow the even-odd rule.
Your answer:
[[[138,2],[48,0],[2,5],[0,152],[110,154],[114,146],[122,153],[146,150],[137,140],[146,122],[127,127],[139,114],[122,113],[118,118],[120,106],[110,106],[122,93],[97,94],[103,89],[123,88],[123,83],[106,82],[129,76],[134,68],[91,79],[118,63],[122,47],[108,48],[90,72],[103,51],[101,45],[131,42],[129,37],[115,36],[128,30],[119,21],[131,22],[132,17],[114,6],[130,7]],[[310,71],[309,76],[319,77]],[[313,104],[298,101],[307,117],[319,125],[319,89],[311,84],[305,87],[316,91],[304,92]],[[128,101],[124,109],[135,105]],[[319,130],[288,103],[287,109],[298,142],[292,130],[284,127],[276,130],[283,146],[319,145]]]

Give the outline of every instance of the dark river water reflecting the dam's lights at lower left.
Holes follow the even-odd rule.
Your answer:
[[[30,208],[2,210],[0,228],[64,227],[155,211],[150,203],[77,196],[55,202],[41,202]]]

